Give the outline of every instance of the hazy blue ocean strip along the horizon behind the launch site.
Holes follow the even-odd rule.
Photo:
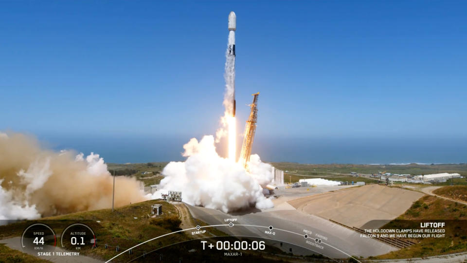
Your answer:
[[[94,152],[108,163],[182,161],[185,159],[181,156],[183,144],[190,138],[188,135],[38,137],[46,148]],[[240,148],[239,139],[237,149]],[[220,144],[217,152],[223,156],[226,149]],[[308,164],[467,163],[467,139],[258,137],[253,142],[252,153],[258,153],[266,162]]]

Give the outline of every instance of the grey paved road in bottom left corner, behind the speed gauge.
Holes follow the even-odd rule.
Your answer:
[[[11,249],[16,249],[18,251],[30,254],[37,257],[37,252],[35,251],[25,251],[21,248],[21,237],[14,237],[9,239],[0,240],[0,244],[5,244]],[[50,252],[70,252],[68,250],[62,249],[58,246],[47,245],[48,251]],[[48,260],[54,263],[102,263],[103,261],[96,260],[87,256],[40,256],[38,258]]]

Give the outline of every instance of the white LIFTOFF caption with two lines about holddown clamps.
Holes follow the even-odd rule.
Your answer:
[[[360,237],[368,238],[444,238],[446,223],[424,222],[420,228],[407,229],[364,229],[365,234]]]

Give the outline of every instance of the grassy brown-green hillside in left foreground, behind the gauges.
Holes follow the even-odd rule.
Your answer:
[[[150,200],[119,207],[114,212],[111,209],[101,209],[1,225],[0,238],[20,236],[27,226],[36,222],[51,226],[55,234],[60,236],[63,229],[68,225],[79,222],[89,225],[94,230],[98,244],[97,249],[81,250],[81,253],[94,258],[108,260],[116,254],[116,246],[119,246],[121,251],[123,251],[122,249],[130,248],[151,238],[172,232],[174,227],[170,224],[154,224],[152,222],[153,219],[148,214],[150,214],[151,205],[153,204],[162,204],[163,214],[159,217],[160,220],[167,219],[167,221],[170,221],[170,218],[173,216],[178,217],[177,209],[173,205],[160,200]],[[178,225],[175,226],[175,228],[177,227]],[[187,235],[180,233],[157,240],[157,244],[167,245],[188,239]],[[108,249],[105,249],[105,244],[108,244]],[[141,253],[143,251],[150,251],[154,244],[142,245],[137,250],[141,251]],[[137,253],[136,250],[134,252]],[[130,258],[126,254],[119,261],[128,261]]]

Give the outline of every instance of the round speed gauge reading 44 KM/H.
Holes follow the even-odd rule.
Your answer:
[[[30,225],[21,235],[21,247],[39,254],[52,251],[56,244],[57,237],[54,230],[45,224]]]

